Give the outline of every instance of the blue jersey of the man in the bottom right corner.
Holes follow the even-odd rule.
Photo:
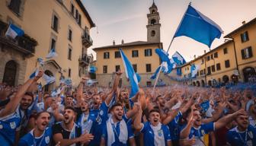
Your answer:
[[[239,132],[237,127],[235,127],[227,133],[227,141],[232,146],[256,145],[256,129],[249,125],[245,132]]]

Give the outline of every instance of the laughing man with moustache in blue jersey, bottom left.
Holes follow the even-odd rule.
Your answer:
[[[40,112],[35,116],[35,128],[32,129],[27,135],[18,142],[18,146],[30,146],[50,145],[52,138],[52,129],[47,128],[48,122],[50,121],[50,113]]]

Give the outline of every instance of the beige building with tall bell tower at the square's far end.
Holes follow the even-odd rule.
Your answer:
[[[160,16],[154,2],[149,8],[147,17],[147,41],[124,43],[122,40],[120,44],[113,42],[111,46],[93,49],[97,56],[97,61],[95,62],[97,67],[96,79],[100,86],[111,86],[115,72],[119,69],[124,72],[119,49],[123,50],[133,65],[134,71],[141,76],[140,86],[151,86],[155,83],[155,80],[150,79],[155,69],[160,65],[160,59],[155,53],[155,49],[162,49],[163,46],[160,42]],[[122,85],[128,87],[129,82],[126,80],[125,74],[123,74],[122,78]],[[166,80],[170,80],[164,75],[161,75],[160,78],[165,80],[165,83],[168,83]]]

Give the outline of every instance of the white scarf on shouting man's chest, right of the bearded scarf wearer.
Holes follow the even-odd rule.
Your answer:
[[[162,124],[160,122],[156,126],[150,124],[150,127],[154,132],[155,146],[165,145],[165,135],[162,130]]]

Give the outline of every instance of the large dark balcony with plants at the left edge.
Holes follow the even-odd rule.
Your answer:
[[[14,40],[5,37],[7,27],[8,24],[2,21],[0,22],[0,44],[2,45],[2,49],[15,49],[23,53],[24,56],[34,56],[37,40],[30,38],[27,34],[24,34],[22,37],[16,37]]]

